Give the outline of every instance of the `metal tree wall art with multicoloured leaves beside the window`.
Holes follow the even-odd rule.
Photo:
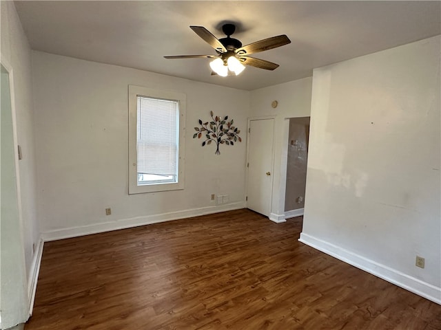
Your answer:
[[[228,116],[225,115],[225,118],[214,117],[213,111],[209,112],[212,115],[211,122],[202,122],[199,120],[199,124],[201,127],[195,127],[193,138],[196,136],[198,139],[203,137],[202,146],[207,144],[212,144],[212,142],[216,143],[216,155],[220,155],[219,146],[220,144],[227,144],[227,146],[234,146],[234,142],[242,142],[242,139],[238,135],[240,130],[233,126],[234,120],[228,121]]]

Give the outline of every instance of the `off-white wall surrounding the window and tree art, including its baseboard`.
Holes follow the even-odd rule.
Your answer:
[[[245,132],[248,91],[43,52],[32,52],[32,66],[45,239],[245,206],[245,134],[220,155],[192,135],[209,111],[229,115]],[[187,95],[184,190],[127,194],[128,85]],[[216,206],[213,193],[229,195],[229,203]]]

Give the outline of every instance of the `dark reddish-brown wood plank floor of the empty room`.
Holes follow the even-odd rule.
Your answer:
[[[441,329],[441,306],[249,210],[45,243],[25,330]]]

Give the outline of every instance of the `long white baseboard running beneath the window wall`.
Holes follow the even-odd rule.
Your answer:
[[[190,210],[181,210],[176,212],[167,212],[161,214],[152,214],[143,217],[134,217],[128,219],[119,219],[112,222],[96,223],[94,225],[83,225],[79,227],[65,228],[60,230],[50,230],[43,232],[43,241],[56,241],[57,239],[68,239],[70,237],[97,234],[99,232],[110,232],[125,228],[138,227],[140,225],[150,225],[177,219],[198,217],[200,215],[225,212],[229,210],[238,210],[245,208],[245,201],[228,203],[221,206],[207,206],[205,208],[193,208]]]

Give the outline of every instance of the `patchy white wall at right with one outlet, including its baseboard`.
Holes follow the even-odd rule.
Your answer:
[[[314,70],[301,241],[441,303],[440,36]]]

